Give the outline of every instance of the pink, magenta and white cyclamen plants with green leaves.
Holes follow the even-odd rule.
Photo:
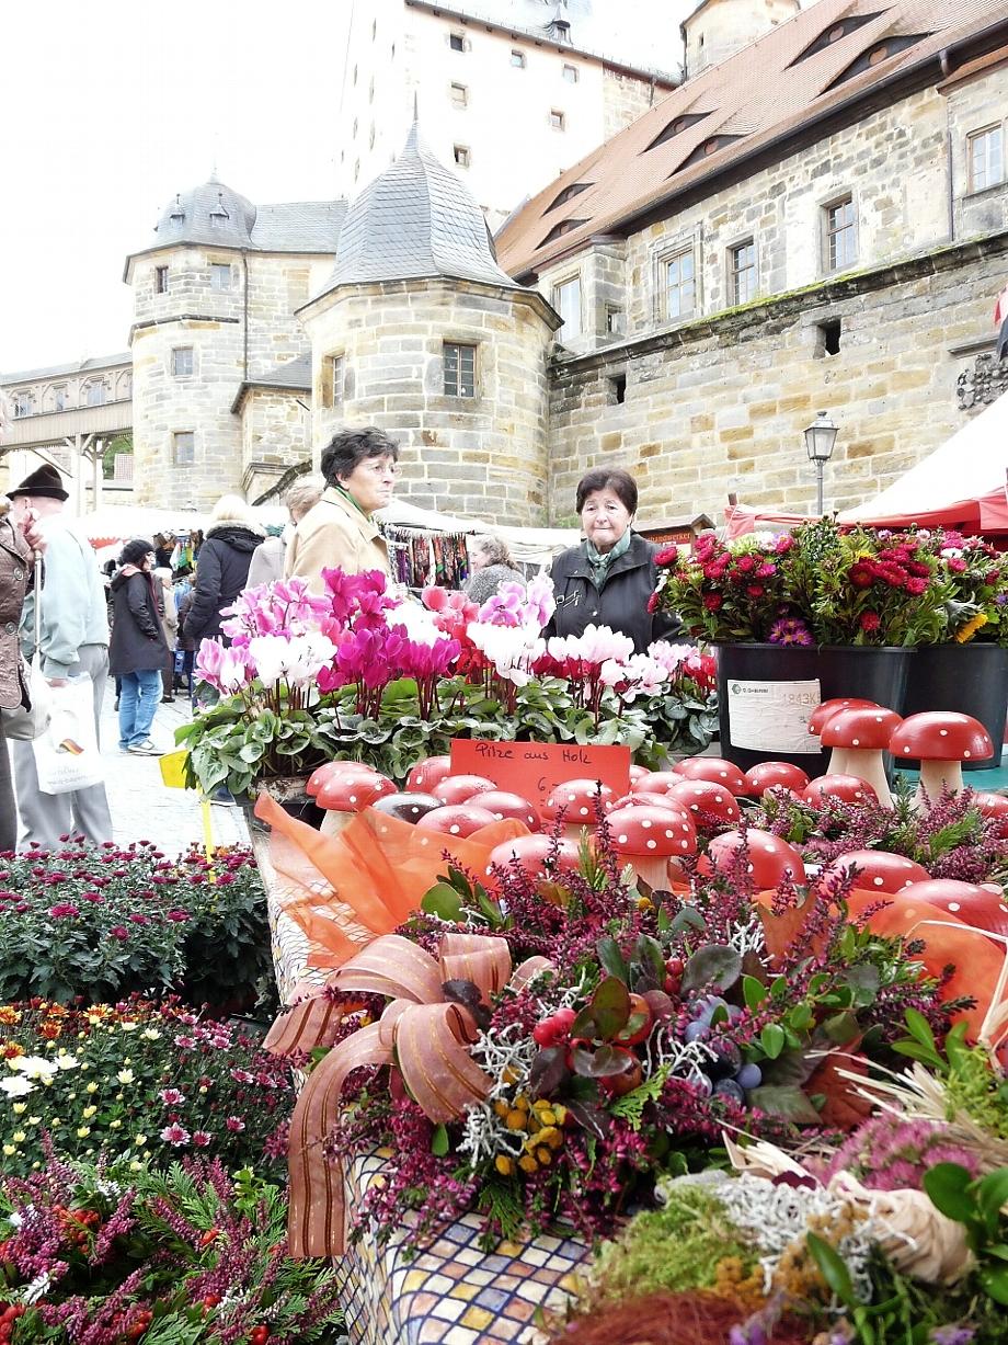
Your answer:
[[[403,599],[380,572],[324,581],[321,596],[300,580],[247,589],[228,643],[203,643],[198,672],[219,701],[176,732],[191,785],[241,796],[339,757],[402,780],[456,737],[618,741],[652,764],[714,732],[710,658],[664,643],[634,655],[595,627],[547,640],[547,576],[481,608],[442,589]]]

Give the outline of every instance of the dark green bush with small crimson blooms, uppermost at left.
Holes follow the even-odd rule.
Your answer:
[[[116,1001],[183,990],[191,1003],[274,1002],[266,897],[247,850],[173,858],[141,841],[67,839],[0,855],[0,1002]]]

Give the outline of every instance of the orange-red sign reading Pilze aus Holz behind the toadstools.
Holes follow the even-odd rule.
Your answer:
[[[453,775],[482,775],[499,790],[546,803],[564,780],[601,780],[617,798],[630,788],[630,749],[578,742],[492,742],[452,740]]]

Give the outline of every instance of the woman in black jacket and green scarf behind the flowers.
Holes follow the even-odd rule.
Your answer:
[[[657,547],[630,526],[637,483],[617,468],[586,472],[578,482],[577,508],[585,541],[560,551],[550,568],[556,611],[544,633],[583,635],[589,625],[607,625],[629,635],[634,654],[644,654],[679,623],[648,611]]]

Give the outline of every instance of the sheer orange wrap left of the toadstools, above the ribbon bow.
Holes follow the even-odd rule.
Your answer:
[[[364,808],[339,835],[327,837],[265,792],[255,816],[273,829],[270,862],[278,878],[273,897],[305,933],[306,966],[321,970],[343,966],[371,939],[415,915],[423,893],[445,872],[445,853],[460,869],[485,874],[496,845],[530,834],[524,823],[504,819],[462,839],[418,831],[410,822]],[[317,890],[320,874],[332,893]]]

